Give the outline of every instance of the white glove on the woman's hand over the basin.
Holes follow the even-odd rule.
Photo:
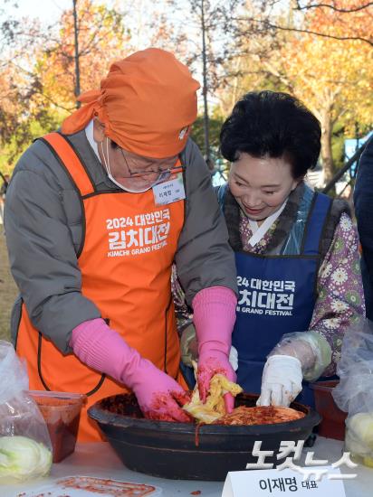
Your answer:
[[[301,391],[301,361],[291,355],[270,356],[263,369],[257,406],[288,407]]]

